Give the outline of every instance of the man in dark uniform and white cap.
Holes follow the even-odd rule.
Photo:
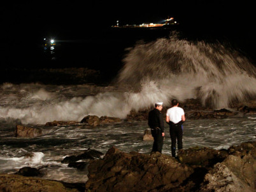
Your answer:
[[[164,143],[164,120],[162,117],[162,102],[156,102],[155,108],[148,113],[148,126],[151,128],[153,136],[153,151],[162,153],[162,145]]]

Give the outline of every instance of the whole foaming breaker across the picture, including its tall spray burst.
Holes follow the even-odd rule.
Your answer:
[[[106,88],[4,83],[0,118],[23,124],[81,121],[86,115],[124,119],[156,101],[170,106],[173,98],[200,99],[218,109],[255,99],[255,77],[255,67],[231,47],[170,36],[129,48],[117,82]]]

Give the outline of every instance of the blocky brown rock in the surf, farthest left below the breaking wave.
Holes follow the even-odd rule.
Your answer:
[[[39,128],[26,127],[24,125],[16,125],[15,137],[34,138],[43,135],[42,130]]]

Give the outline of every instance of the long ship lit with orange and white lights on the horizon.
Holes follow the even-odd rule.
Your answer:
[[[178,22],[174,20],[173,17],[167,18],[164,24],[153,24],[153,23],[143,23],[141,25],[119,25],[119,21],[117,21],[117,25],[113,25],[112,27],[116,28],[162,28],[162,27],[171,27],[172,25],[178,25]]]

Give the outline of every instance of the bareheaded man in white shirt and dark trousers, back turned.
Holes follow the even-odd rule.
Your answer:
[[[185,121],[185,113],[181,107],[178,107],[178,100],[171,101],[173,107],[169,108],[166,113],[166,122],[169,124],[171,136],[171,155],[175,157],[176,139],[178,141],[178,149],[182,149],[182,123]]]

